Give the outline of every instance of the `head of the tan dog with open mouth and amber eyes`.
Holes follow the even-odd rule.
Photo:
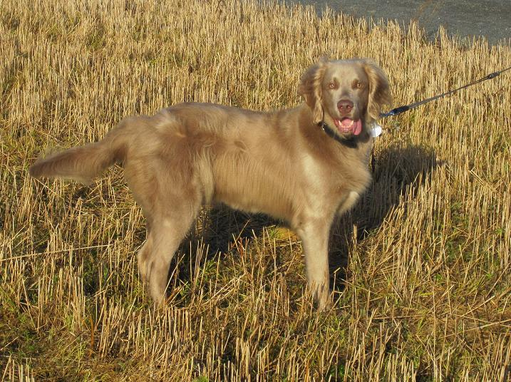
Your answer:
[[[321,60],[301,77],[298,93],[314,123],[325,122],[345,138],[359,135],[391,103],[385,73],[367,59]]]

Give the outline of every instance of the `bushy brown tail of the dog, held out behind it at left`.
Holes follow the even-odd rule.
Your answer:
[[[105,138],[96,143],[70,148],[38,159],[29,167],[33,177],[58,177],[91,182],[115,162],[124,162],[127,155],[129,126],[132,118],[125,118]],[[128,129],[127,129],[128,128]]]

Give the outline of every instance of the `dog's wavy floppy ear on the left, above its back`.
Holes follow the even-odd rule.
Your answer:
[[[321,58],[316,65],[307,69],[304,75],[301,76],[298,86],[298,94],[305,98],[305,103],[311,108],[314,123],[320,123],[323,120],[321,81],[323,81],[326,61],[326,58]]]

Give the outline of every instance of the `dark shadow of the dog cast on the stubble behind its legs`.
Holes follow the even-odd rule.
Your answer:
[[[433,150],[417,145],[391,145],[373,156],[371,186],[358,205],[340,217],[331,231],[329,260],[334,291],[342,291],[345,286],[349,249],[353,245],[353,225],[357,227],[357,242],[361,242],[380,227],[388,212],[398,205],[402,197],[415,197],[420,186],[440,165]],[[279,222],[266,215],[237,212],[224,206],[203,211],[197,220],[195,232],[180,247],[180,252],[185,254],[185,262],[182,262],[178,272],[180,281],[186,282],[190,278],[190,265],[187,263],[193,260],[187,257],[196,253],[199,246],[205,248],[205,256],[200,260],[200,263],[205,263],[219,254],[228,254],[239,239],[244,241],[259,237],[264,227],[274,224]]]

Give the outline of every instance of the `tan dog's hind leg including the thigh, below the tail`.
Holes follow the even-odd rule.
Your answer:
[[[174,172],[169,174],[169,169]],[[138,252],[140,278],[155,304],[162,304],[170,262],[197,217],[202,190],[195,177],[158,160],[128,162],[125,174],[148,224],[147,240]]]

